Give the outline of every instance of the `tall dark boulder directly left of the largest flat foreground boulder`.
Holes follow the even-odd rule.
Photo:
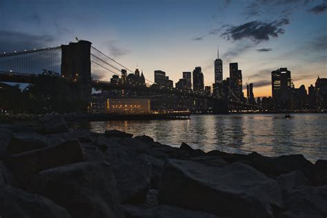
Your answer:
[[[105,143],[106,160],[112,165],[117,180],[121,202],[125,204],[142,203],[150,188],[151,164],[137,158],[119,142],[108,143],[106,139],[98,139],[98,146]]]

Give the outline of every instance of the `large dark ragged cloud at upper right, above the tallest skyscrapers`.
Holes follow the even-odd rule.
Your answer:
[[[238,41],[242,39],[250,39],[255,43],[268,41],[271,37],[278,37],[284,34],[284,26],[290,22],[288,19],[279,19],[270,23],[262,21],[250,21],[239,26],[231,26],[221,34],[227,40]]]

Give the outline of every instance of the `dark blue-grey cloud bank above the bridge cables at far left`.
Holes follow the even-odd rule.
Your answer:
[[[14,50],[32,50],[43,48],[53,43],[54,37],[43,34],[29,34],[26,32],[16,32],[0,30],[0,52],[13,52]]]

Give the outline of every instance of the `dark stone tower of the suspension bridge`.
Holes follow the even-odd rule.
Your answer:
[[[81,110],[86,110],[90,101],[91,86],[91,42],[79,40],[61,45],[61,77],[70,79],[72,87],[70,98],[82,102]]]

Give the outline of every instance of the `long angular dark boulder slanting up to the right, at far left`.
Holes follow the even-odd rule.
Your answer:
[[[22,187],[28,186],[28,181],[37,172],[83,161],[81,144],[77,139],[61,143],[58,146],[42,148],[12,155],[6,160],[6,166]]]

